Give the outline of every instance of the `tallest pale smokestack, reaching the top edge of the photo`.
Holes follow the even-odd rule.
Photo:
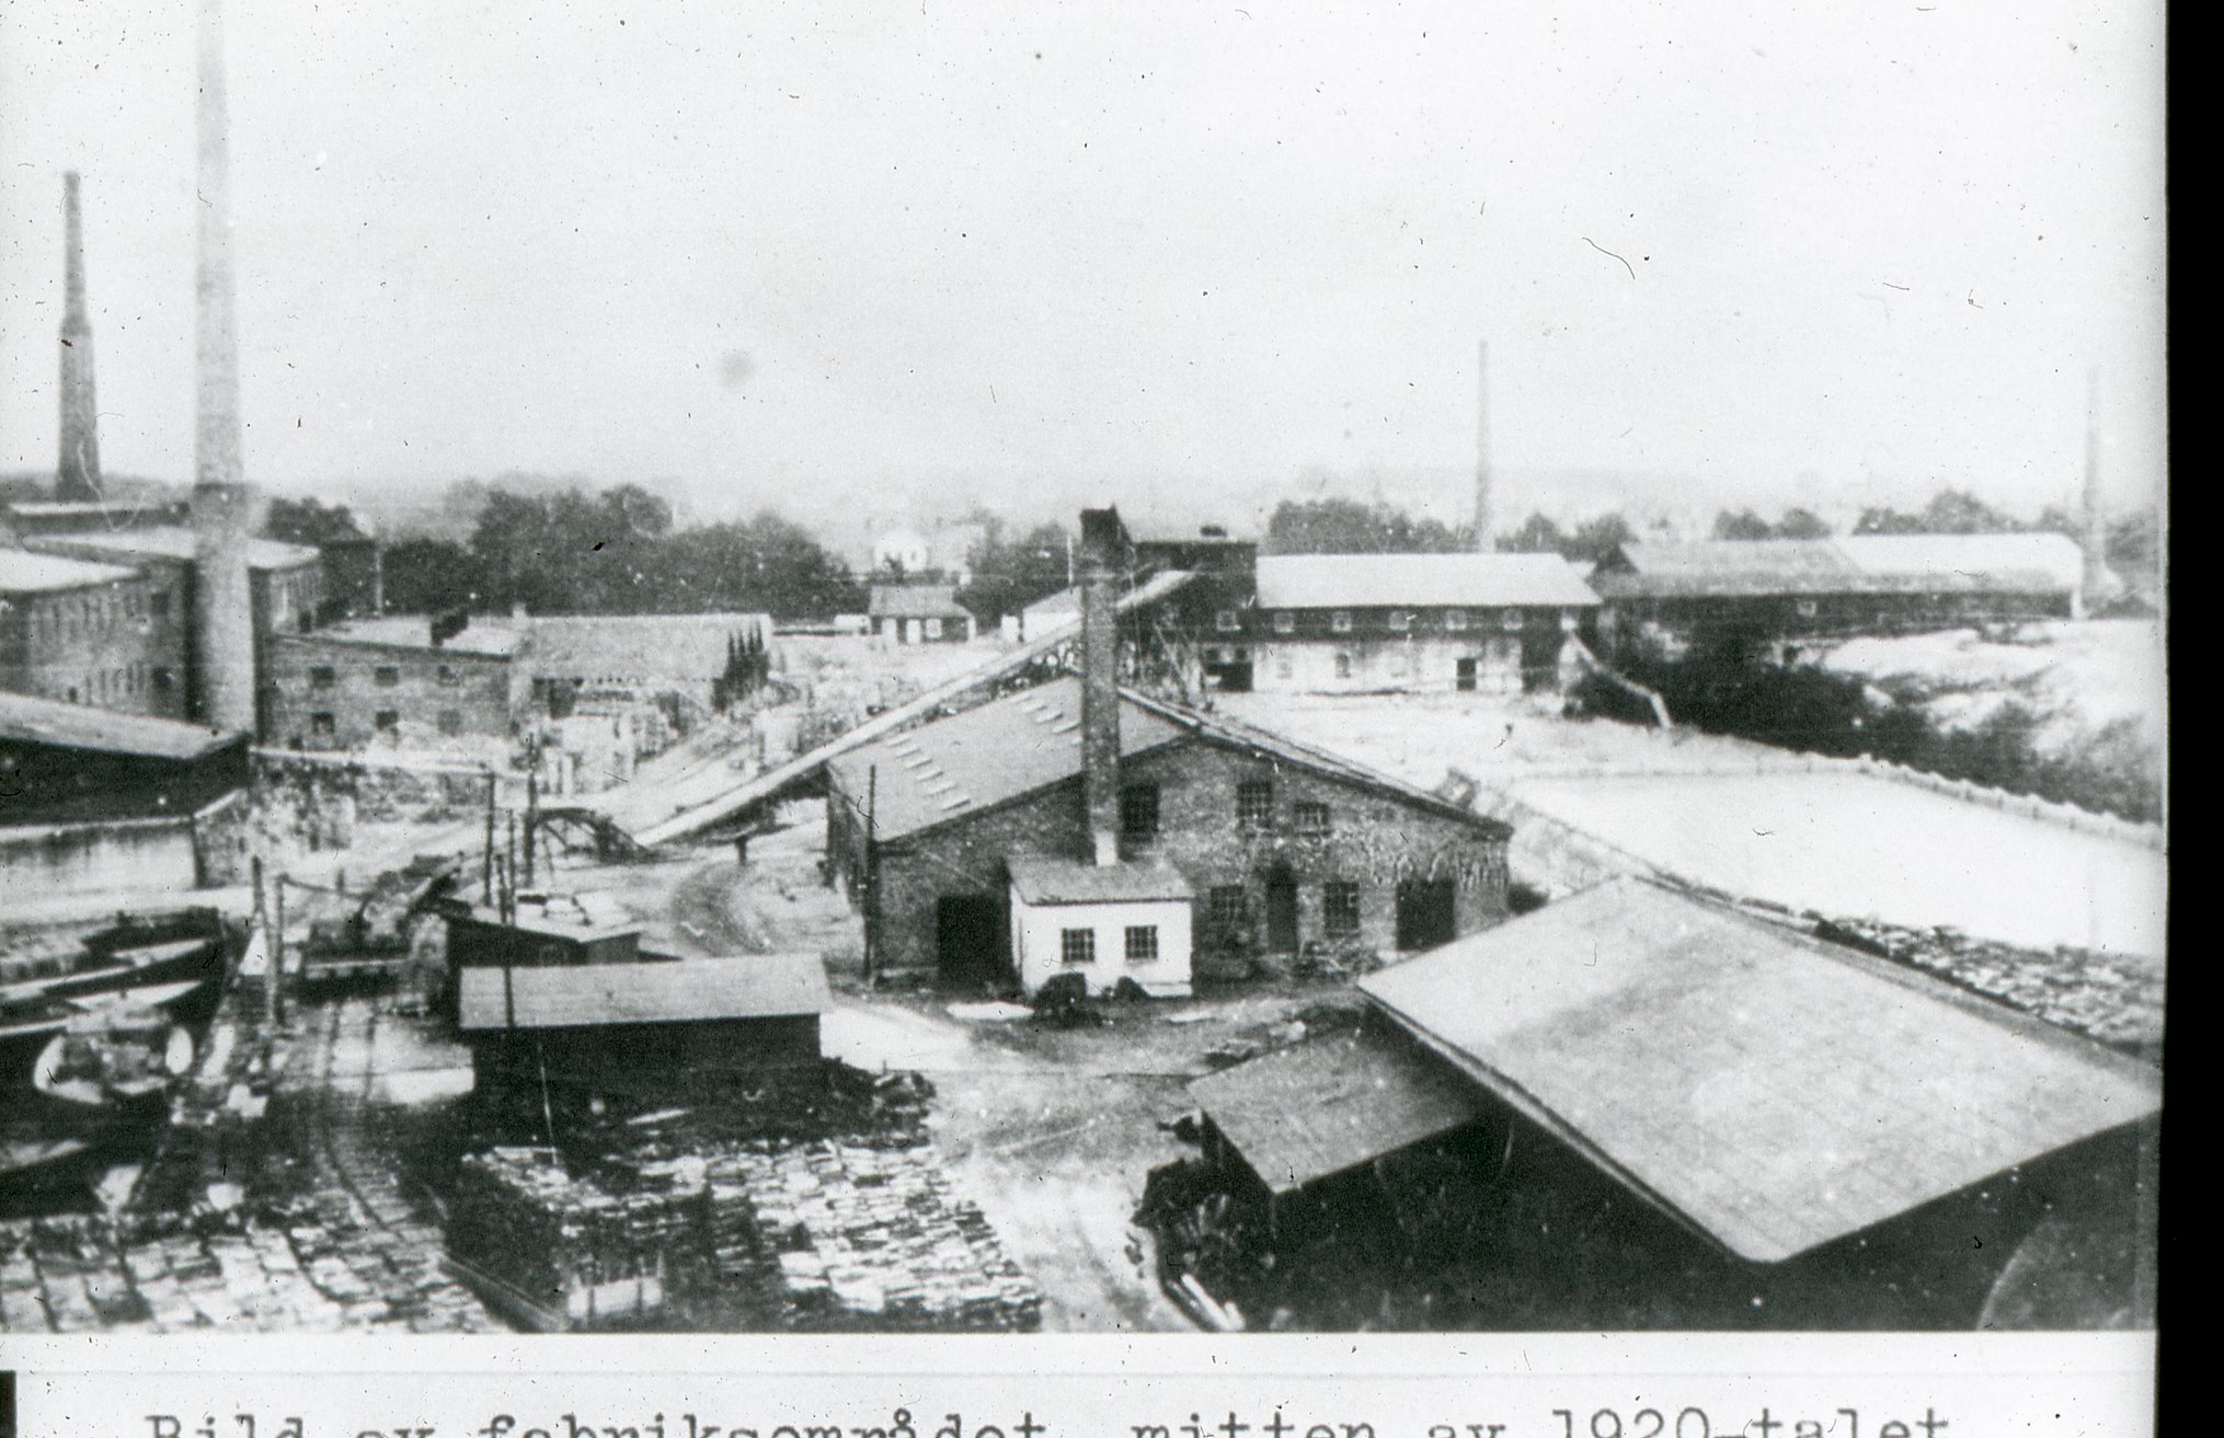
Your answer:
[[[247,580],[254,496],[240,465],[240,340],[231,273],[231,116],[225,18],[200,0],[200,104],[193,304],[193,671],[198,716],[256,729],[256,649]]]

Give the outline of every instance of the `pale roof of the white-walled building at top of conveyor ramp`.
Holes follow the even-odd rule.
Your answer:
[[[1508,609],[1597,605],[1557,553],[1274,553],[1259,560],[1261,609]]]

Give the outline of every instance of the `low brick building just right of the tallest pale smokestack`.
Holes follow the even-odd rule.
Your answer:
[[[262,669],[267,738],[360,749],[378,738],[507,738],[532,700],[529,640],[498,625],[389,616],[276,636]]]

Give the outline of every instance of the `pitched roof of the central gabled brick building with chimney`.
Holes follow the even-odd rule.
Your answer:
[[[1352,760],[1299,745],[1254,725],[1197,713],[1121,691],[1119,751],[1134,758],[1183,736],[1248,749],[1350,785],[1394,793],[1417,807],[1461,818],[1499,836],[1499,820],[1450,805],[1428,789],[1377,773]],[[1081,680],[1059,678],[950,718],[892,733],[827,760],[834,782],[863,805],[874,789],[874,833],[898,840],[979,813],[1065,780],[1081,778]]]

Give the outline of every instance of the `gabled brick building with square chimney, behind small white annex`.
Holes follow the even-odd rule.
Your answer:
[[[1103,889],[1105,905],[1179,900],[1163,882],[1130,893],[1132,882],[1103,873],[1123,867],[1179,873],[1201,960],[1314,945],[1426,949],[1506,918],[1506,825],[1261,729],[1116,689],[1116,538],[1099,516],[1119,525],[1110,511],[1083,516],[1083,678],[827,762],[827,871],[865,916],[876,976],[1007,985],[1014,905],[1070,900],[1054,889]],[[1034,860],[1094,865],[1099,878],[1030,885]],[[1103,945],[1112,920],[1065,927],[1090,927]],[[1159,953],[1170,938],[1159,933]],[[1072,962],[1092,987],[1152,973],[1150,956],[1114,971],[1081,949]]]

